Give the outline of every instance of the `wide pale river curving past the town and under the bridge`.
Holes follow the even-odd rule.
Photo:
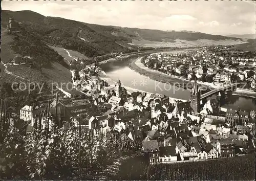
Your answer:
[[[109,61],[101,64],[101,69],[112,80],[117,81],[119,79],[125,86],[136,88],[144,92],[158,93],[176,99],[189,100],[190,90],[149,79],[131,70],[129,63],[139,57],[141,56],[119,61]],[[215,97],[214,95],[211,98]],[[255,98],[234,95],[226,99],[225,104],[221,106],[232,109],[241,108],[246,111],[256,109]]]

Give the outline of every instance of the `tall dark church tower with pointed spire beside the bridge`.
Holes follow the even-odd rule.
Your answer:
[[[190,106],[194,112],[200,112],[200,100],[201,100],[201,91],[198,89],[197,81],[195,79],[194,87],[190,92]]]

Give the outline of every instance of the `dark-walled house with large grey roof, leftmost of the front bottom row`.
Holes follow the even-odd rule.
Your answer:
[[[142,151],[147,154],[150,159],[150,163],[159,162],[159,146],[156,140],[143,141]]]

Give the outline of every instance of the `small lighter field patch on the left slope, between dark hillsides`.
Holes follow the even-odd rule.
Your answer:
[[[55,50],[56,52],[58,52],[59,55],[61,55],[62,57],[64,57],[66,60],[68,60],[68,62],[70,63],[72,60],[74,60],[72,57],[74,58],[79,58],[79,59],[90,59],[87,56],[77,52],[77,51],[73,51],[73,50],[67,50],[70,53],[70,57],[68,52],[66,50],[64,50],[63,48],[60,47],[53,47],[53,46],[49,46],[51,47],[53,50]]]

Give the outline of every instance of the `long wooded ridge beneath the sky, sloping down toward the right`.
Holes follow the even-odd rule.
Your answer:
[[[133,52],[138,47],[187,47],[239,44],[240,38],[190,31],[160,31],[87,24],[60,17],[46,17],[33,11],[2,11],[2,26],[14,17],[22,26],[54,47],[78,51],[87,57],[113,52]]]

